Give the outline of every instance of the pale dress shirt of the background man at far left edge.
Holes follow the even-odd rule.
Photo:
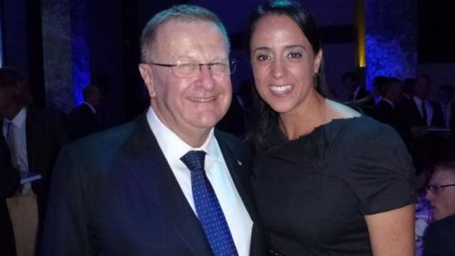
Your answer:
[[[26,125],[25,118],[27,118],[27,108],[22,108],[19,113],[13,118],[13,120],[8,120],[3,118],[3,136],[6,138],[8,132],[8,124],[11,123],[14,137],[14,153],[18,162],[13,163],[15,168],[18,168],[20,171],[29,171],[29,161],[27,156],[27,134],[26,134]],[[8,138],[6,138],[8,139]],[[22,188],[22,194],[27,194],[31,191],[30,183],[25,183]]]

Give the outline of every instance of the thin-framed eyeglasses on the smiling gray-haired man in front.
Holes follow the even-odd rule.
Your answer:
[[[213,76],[221,78],[234,73],[236,68],[236,61],[234,59],[205,64],[186,61],[178,61],[175,64],[161,64],[156,62],[148,62],[146,64],[172,68],[172,73],[178,78],[195,78],[199,76],[202,66],[207,66]]]

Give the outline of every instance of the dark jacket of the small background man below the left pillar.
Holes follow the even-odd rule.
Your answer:
[[[68,115],[72,138],[80,138],[99,131],[98,115],[87,104],[73,108]]]

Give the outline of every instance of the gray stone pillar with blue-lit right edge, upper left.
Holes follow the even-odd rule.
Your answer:
[[[88,0],[43,0],[43,69],[46,106],[68,112],[90,81]]]

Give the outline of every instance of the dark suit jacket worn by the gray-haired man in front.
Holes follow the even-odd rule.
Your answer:
[[[255,223],[251,255],[265,255],[251,161],[235,137],[216,131],[216,138]],[[212,255],[146,115],[62,150],[44,232],[43,255]]]

